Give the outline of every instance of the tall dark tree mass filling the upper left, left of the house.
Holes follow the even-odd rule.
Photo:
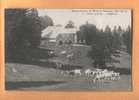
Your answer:
[[[25,58],[40,44],[42,25],[36,9],[6,9],[6,55]],[[28,54],[27,54],[28,53]]]

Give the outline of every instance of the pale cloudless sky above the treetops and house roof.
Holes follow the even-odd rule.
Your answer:
[[[39,16],[49,16],[54,25],[65,26],[69,20],[79,29],[86,22],[95,24],[97,28],[104,29],[107,25],[111,28],[121,26],[126,29],[131,26],[130,9],[37,9]]]

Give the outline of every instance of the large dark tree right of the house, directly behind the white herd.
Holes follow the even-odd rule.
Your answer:
[[[113,58],[117,56],[117,49],[113,48],[113,41],[115,41],[112,35],[111,28],[106,26],[105,30],[97,31],[94,35],[94,40],[91,44],[91,51],[89,56],[93,59],[93,64],[98,68],[107,67],[107,63],[118,62]]]

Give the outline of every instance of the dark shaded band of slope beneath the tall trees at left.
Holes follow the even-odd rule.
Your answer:
[[[55,67],[54,63],[48,61],[49,58],[55,55],[49,55],[50,49],[35,48],[23,51],[23,53],[6,54],[5,61],[7,63],[20,63],[28,65],[38,65],[42,67]],[[43,60],[43,61],[42,61]]]

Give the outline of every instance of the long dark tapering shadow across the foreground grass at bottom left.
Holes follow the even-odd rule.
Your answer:
[[[31,81],[31,82],[6,82],[6,90],[15,90],[21,88],[52,86],[65,83],[64,81]]]

